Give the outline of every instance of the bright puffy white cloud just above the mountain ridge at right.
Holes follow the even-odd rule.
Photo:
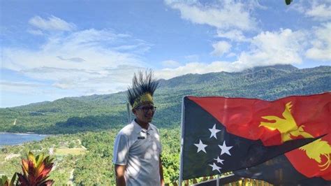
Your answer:
[[[307,45],[305,39],[303,31],[263,31],[252,39],[251,50],[242,52],[235,64],[247,68],[273,64],[300,64],[304,46]]]

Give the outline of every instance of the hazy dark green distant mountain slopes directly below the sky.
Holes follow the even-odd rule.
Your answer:
[[[274,100],[331,91],[331,66],[297,69],[291,65],[256,67],[237,73],[187,74],[160,80],[154,124],[177,127],[182,97],[231,96]],[[66,97],[27,106],[0,108],[0,131],[66,134],[103,130],[128,122],[126,92]],[[15,122],[16,120],[16,122]]]

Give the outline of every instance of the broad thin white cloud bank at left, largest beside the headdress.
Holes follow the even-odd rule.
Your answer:
[[[125,89],[132,74],[147,66],[141,54],[150,48],[145,41],[109,30],[74,31],[46,40],[38,50],[3,48],[1,67],[81,94],[113,93]]]

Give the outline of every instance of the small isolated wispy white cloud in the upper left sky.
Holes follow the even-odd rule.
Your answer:
[[[43,17],[34,16],[29,20],[29,24],[41,30],[71,31],[75,29],[75,24],[61,20],[54,15],[44,19]]]

